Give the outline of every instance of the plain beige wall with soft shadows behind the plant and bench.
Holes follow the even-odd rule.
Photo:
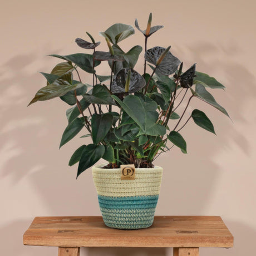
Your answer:
[[[95,2],[95,4],[92,4]],[[221,215],[235,237],[233,249],[202,249],[201,255],[253,255],[255,204],[255,3],[254,1],[4,1],[1,4],[0,64],[0,244],[1,255],[56,255],[56,248],[24,247],[22,234],[34,216],[100,215],[90,171],[76,180],[67,166],[80,146],[75,139],[59,151],[67,106],[60,100],[26,107],[45,84],[57,60],[45,57],[82,52],[73,41],[98,35],[113,23],[165,28],[149,47],[172,46],[185,67],[197,63],[227,90],[214,91],[232,117],[204,106],[218,136],[189,124],[183,131],[188,155],[161,155],[164,179],[156,214]],[[142,35],[121,43],[143,45]],[[102,75],[106,70],[102,68]],[[86,77],[83,77],[86,80]],[[200,107],[196,100],[192,104]],[[193,110],[190,108],[189,111]],[[171,255],[169,249],[84,249],[81,255]]]

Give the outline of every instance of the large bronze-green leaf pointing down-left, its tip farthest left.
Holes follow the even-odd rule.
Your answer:
[[[71,81],[71,73],[67,73],[61,76],[50,85],[47,85],[38,90],[35,97],[32,99],[31,102],[29,102],[28,106],[37,101],[45,101],[51,100],[56,97],[61,97],[69,91],[84,86],[83,83],[76,83],[75,85],[72,85]]]

